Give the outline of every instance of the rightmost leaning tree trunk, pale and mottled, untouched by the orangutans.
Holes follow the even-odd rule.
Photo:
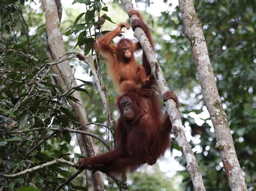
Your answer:
[[[221,160],[223,161],[228,183],[232,190],[247,190],[237,154],[235,153],[227,116],[221,105],[205,37],[197,18],[193,1],[179,0],[179,7],[185,26],[185,35],[190,40],[192,46],[203,99],[215,130],[216,148],[219,150]]]

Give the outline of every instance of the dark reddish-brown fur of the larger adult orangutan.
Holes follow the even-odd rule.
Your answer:
[[[126,102],[128,99],[131,102],[129,104]],[[177,96],[172,91],[164,94],[164,101],[169,99],[173,99],[178,105]],[[126,103],[130,107],[129,114],[134,114],[129,119],[122,108]],[[104,154],[80,159],[79,169],[87,168],[104,173],[133,172],[146,162],[153,165],[170,147],[172,125],[168,116],[164,119],[157,95],[145,97],[129,91],[118,98],[117,105],[120,117],[114,135],[116,148]]]

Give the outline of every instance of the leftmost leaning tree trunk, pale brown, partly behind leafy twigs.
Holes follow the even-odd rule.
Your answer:
[[[58,7],[61,8],[61,6]],[[48,34],[48,45],[52,58],[57,60],[61,55],[65,53],[64,42],[62,39],[62,34],[60,33],[60,17],[58,17],[58,15],[61,15],[61,11],[57,10],[55,1],[43,0],[43,8],[46,20],[46,32]],[[63,92],[69,90],[70,87],[77,86],[76,81],[73,80],[73,73],[68,60],[58,64],[55,67],[55,72],[59,75],[58,83]],[[87,124],[87,117],[86,111],[83,107],[82,97],[78,91],[75,91],[72,96],[77,98],[79,103],[73,102],[71,100],[69,100],[69,103],[71,104],[71,107],[75,112],[79,123],[85,125]],[[84,126],[83,130],[87,131],[87,128]],[[90,137],[77,134],[77,138],[82,155],[95,155]],[[85,172],[88,190],[104,190],[102,178],[100,177],[99,172],[96,172],[95,174],[92,174],[92,171]]]

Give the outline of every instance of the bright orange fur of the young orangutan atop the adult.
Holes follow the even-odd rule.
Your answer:
[[[143,22],[142,16],[138,11],[132,10],[129,12],[129,16],[133,14],[138,15],[140,19],[133,20],[132,28],[141,27],[153,46],[149,27]],[[121,23],[118,25],[117,29],[100,37],[96,44],[96,49],[105,55],[109,65],[110,76],[117,85],[118,91],[121,93],[130,90],[139,91],[138,86],[144,86],[151,75],[150,65],[145,59],[145,54],[143,54],[143,65],[137,65],[134,58],[134,52],[142,48],[139,42],[132,43],[129,39],[121,39],[116,45],[111,43],[112,39],[122,32],[123,27],[126,27],[126,29],[130,28],[129,24]],[[123,51],[123,48],[127,47],[129,47],[129,49]],[[129,58],[125,56],[127,52],[131,54]]]

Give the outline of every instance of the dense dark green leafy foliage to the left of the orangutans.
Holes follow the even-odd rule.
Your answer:
[[[45,38],[41,38],[45,31],[28,35],[28,29],[23,27],[25,20],[19,12],[25,8],[14,3],[4,1],[1,4],[4,17],[0,50],[0,169],[4,174],[59,158],[73,161],[72,134],[62,130],[79,129],[81,125],[67,100],[76,101],[71,95],[73,90],[86,92],[80,87],[71,88],[65,94],[60,91],[55,82],[56,74],[49,73],[52,66],[46,57],[46,44],[42,43]],[[15,20],[22,20],[22,24],[13,25]],[[43,53],[39,51],[41,46],[45,47]],[[85,86],[91,86],[84,82]],[[3,190],[51,190],[69,178],[73,171],[57,164],[23,178],[0,178],[0,187]],[[29,186],[31,182],[33,187]],[[70,189],[72,187],[76,189],[70,183]]]

